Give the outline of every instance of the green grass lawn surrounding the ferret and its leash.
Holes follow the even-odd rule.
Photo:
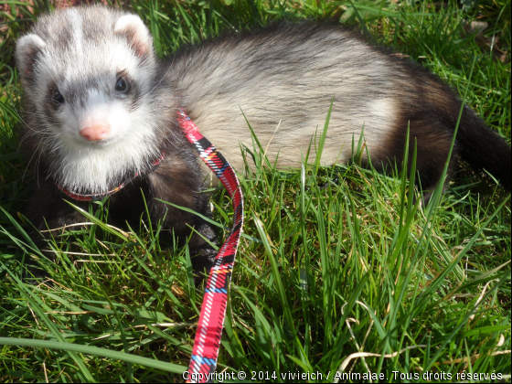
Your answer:
[[[466,94],[510,141],[510,1],[462,2],[473,5],[467,9],[395,3],[130,5],[161,55],[283,17],[358,22]],[[182,381],[202,300],[187,247],[160,239],[146,220],[130,231],[106,226],[103,203],[83,212],[86,229],[48,243],[55,262],[27,235],[19,212],[30,175],[17,152],[13,50],[48,4],[0,5],[0,380]],[[463,33],[471,21],[488,22],[485,36],[499,37],[492,50]],[[504,62],[496,49],[506,52]],[[251,152],[264,164],[257,144]],[[240,175],[247,219],[218,372],[244,371],[257,381],[297,372],[310,372],[300,381],[311,382],[357,381],[366,377],[349,374],[368,372],[377,375],[368,381],[496,381],[492,373],[509,380],[510,195],[463,166],[443,196],[422,208],[408,175],[313,163]],[[220,190],[212,203],[219,232],[229,228],[227,194]],[[28,260],[48,277],[22,279]],[[311,375],[317,372],[321,378]]]

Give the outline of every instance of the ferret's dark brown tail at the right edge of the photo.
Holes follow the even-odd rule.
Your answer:
[[[510,145],[498,133],[487,127],[467,106],[464,106],[459,124],[457,144],[463,160],[473,169],[485,169],[510,191]]]

